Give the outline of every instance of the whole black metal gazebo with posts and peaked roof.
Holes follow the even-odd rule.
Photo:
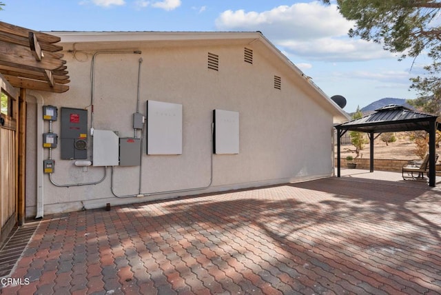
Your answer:
[[[435,187],[435,134],[441,131],[438,116],[415,112],[401,105],[386,105],[372,114],[340,125],[337,129],[337,176],[340,177],[340,139],[348,131],[365,132],[370,144],[370,172],[373,172],[373,141],[384,132],[424,130],[429,133],[429,185]],[[374,137],[374,134],[378,134]]]

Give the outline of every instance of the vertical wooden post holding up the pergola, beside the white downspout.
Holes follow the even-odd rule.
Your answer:
[[[19,225],[25,223],[25,187],[26,187],[26,90],[20,89],[19,96],[19,165],[17,171],[19,172],[18,181],[18,202],[17,202],[17,218]]]

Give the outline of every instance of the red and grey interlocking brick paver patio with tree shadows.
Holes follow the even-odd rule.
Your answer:
[[[441,191],[342,177],[47,216],[8,278],[1,294],[440,294]]]

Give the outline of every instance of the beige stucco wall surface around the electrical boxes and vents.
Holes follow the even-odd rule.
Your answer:
[[[249,46],[252,48],[252,46]],[[60,148],[52,150],[56,161],[52,179],[59,184],[98,181],[98,185],[56,187],[44,176],[44,212],[103,207],[154,199],[254,187],[287,181],[302,181],[333,172],[332,115],[299,88],[294,73],[280,68],[276,57],[254,50],[253,64],[243,60],[243,46],[183,48],[136,48],[142,54],[97,54],[94,67],[94,129],[114,130],[120,137],[134,136],[132,114],[136,111],[139,59],[141,63],[140,112],[146,114],[145,101],[183,105],[183,154],[178,156],[142,155],[141,193],[205,187],[206,190],[152,194],[139,198],[117,198],[110,190],[111,168],[76,167],[74,161],[61,160]],[[207,52],[219,55],[219,70],[207,69]],[[41,93],[45,105],[85,108],[91,123],[90,69],[93,51],[64,52],[68,62],[70,90],[63,94]],[[268,57],[269,56],[269,57]],[[274,75],[282,78],[282,89],[274,88]],[[318,94],[317,94],[318,95]],[[37,190],[31,172],[36,163],[37,118],[34,97],[28,95],[28,153],[26,215],[36,212]],[[240,153],[213,155],[212,110],[230,110],[240,116]],[[60,134],[60,120],[53,132]],[[44,132],[49,125],[44,123]],[[144,132],[145,135],[145,132]],[[138,133],[141,136],[141,132]],[[59,138],[60,139],[60,138]],[[92,138],[88,139],[88,158],[93,160]],[[145,141],[144,141],[145,143]],[[43,159],[49,151],[44,150]],[[114,167],[114,193],[139,194],[140,167]]]

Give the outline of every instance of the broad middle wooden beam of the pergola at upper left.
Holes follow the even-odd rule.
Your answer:
[[[24,46],[0,42],[0,61],[2,64],[28,69],[56,70],[65,64],[62,59],[51,59],[45,57],[36,61],[29,48]]]

